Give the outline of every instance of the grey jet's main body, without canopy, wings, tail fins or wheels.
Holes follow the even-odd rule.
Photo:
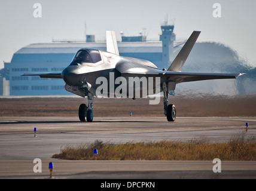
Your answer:
[[[86,50],[86,48],[83,48],[81,50]],[[100,87],[100,85],[102,85],[102,87],[104,87],[104,90],[107,91],[106,93],[108,97],[115,97],[115,90],[117,90],[118,87],[120,88],[120,85],[123,86],[120,88],[123,89],[121,91],[124,91],[124,88],[126,89],[127,97],[129,97],[129,95],[130,97],[134,98],[148,96],[148,94],[151,93],[148,91],[148,88],[151,88],[154,93],[156,93],[156,78],[154,78],[154,75],[147,77],[144,76],[144,74],[147,73],[150,68],[157,68],[155,64],[151,63],[148,60],[117,56],[115,54],[107,53],[105,51],[99,51],[99,53],[101,60],[97,61],[96,63],[77,62],[75,61],[74,57],[74,59],[71,61],[71,64],[62,71],[62,78],[69,88],[77,88],[77,90],[81,91],[84,91],[84,88],[86,88],[87,90],[82,93],[83,97],[87,96],[87,91],[90,91],[91,93],[93,93],[94,96],[97,96],[96,91],[97,88]],[[128,76],[121,75],[121,72],[123,73],[123,71],[126,71]],[[129,73],[132,74],[134,72],[136,72],[137,75],[129,75]],[[122,78],[122,82],[120,82],[120,78]],[[123,84],[124,79],[126,79],[126,87],[124,87],[125,84]],[[119,83],[117,81],[119,81]],[[132,84],[133,88],[129,88],[129,85],[131,85],[131,83],[134,84]],[[145,85],[145,83],[147,83],[147,85]],[[160,85],[160,82],[157,85]],[[139,96],[136,96],[135,93],[138,88],[140,94]],[[146,91],[146,93],[144,93],[144,90]],[[75,93],[74,91],[71,92]],[[123,92],[121,93],[124,94]],[[132,94],[133,96],[131,96]]]

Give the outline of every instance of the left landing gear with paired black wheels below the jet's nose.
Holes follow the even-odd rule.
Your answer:
[[[80,121],[92,122],[93,121],[93,94],[92,93],[88,93],[87,100],[88,100],[88,107],[84,103],[81,104],[78,110],[78,116]]]

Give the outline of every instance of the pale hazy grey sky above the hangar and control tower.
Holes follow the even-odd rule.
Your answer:
[[[214,3],[221,5],[215,18]],[[42,17],[35,18],[33,5],[42,5]],[[94,34],[105,39],[105,30],[138,35],[147,28],[148,39],[159,39],[166,14],[174,20],[176,38],[187,39],[201,30],[198,41],[221,42],[256,66],[256,1],[253,0],[0,0],[0,68],[13,54],[32,43],[54,39],[85,39]]]

